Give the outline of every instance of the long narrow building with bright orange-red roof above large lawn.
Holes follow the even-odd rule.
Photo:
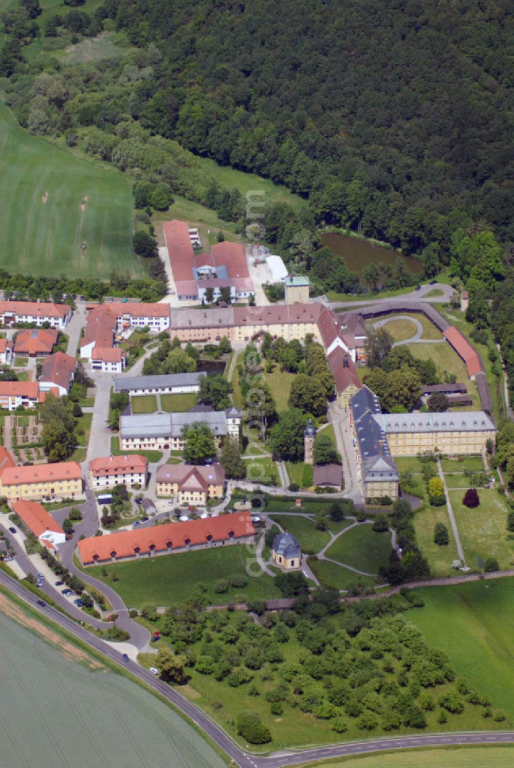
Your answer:
[[[187,522],[154,525],[108,536],[78,541],[77,554],[83,565],[153,558],[169,552],[188,552],[234,544],[251,544],[254,525],[248,512]]]

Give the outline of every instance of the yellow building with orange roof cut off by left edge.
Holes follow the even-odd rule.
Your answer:
[[[82,495],[81,468],[77,462],[5,467],[0,472],[0,494],[9,502],[21,498],[77,498]]]

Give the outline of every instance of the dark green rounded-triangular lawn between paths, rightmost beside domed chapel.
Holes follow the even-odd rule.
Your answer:
[[[325,554],[359,571],[377,574],[380,565],[389,562],[390,551],[390,533],[376,533],[371,525],[363,523],[340,535]]]

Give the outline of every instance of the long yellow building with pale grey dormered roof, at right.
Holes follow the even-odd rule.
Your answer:
[[[393,456],[416,456],[426,451],[481,453],[496,435],[496,426],[484,411],[381,413],[373,418],[385,432]]]

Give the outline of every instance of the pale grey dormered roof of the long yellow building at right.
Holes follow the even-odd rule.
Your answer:
[[[441,413],[383,413],[374,415],[385,432],[475,432],[496,429],[484,411],[443,411]]]

